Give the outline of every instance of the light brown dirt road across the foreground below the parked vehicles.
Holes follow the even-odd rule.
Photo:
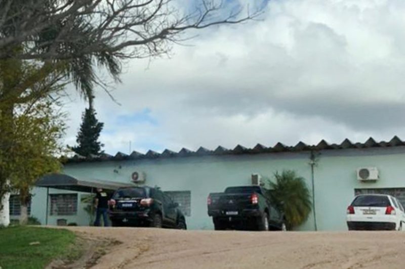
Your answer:
[[[69,228],[118,240],[93,268],[405,268],[405,233]]]

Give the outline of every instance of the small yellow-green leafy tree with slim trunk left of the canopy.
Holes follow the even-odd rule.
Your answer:
[[[12,189],[20,196],[20,223],[28,220],[27,206],[30,190],[39,177],[59,171],[58,156],[63,153],[64,114],[55,111],[51,101],[37,102],[33,106],[19,107],[14,120],[14,167],[10,174]]]

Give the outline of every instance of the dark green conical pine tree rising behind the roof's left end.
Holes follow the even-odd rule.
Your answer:
[[[85,110],[82,116],[82,125],[77,133],[77,146],[72,147],[72,150],[82,156],[89,157],[92,155],[100,155],[104,151],[101,142],[98,141],[100,132],[103,129],[104,123],[99,122],[96,118],[96,111],[93,108],[93,98],[89,100],[89,108]]]

